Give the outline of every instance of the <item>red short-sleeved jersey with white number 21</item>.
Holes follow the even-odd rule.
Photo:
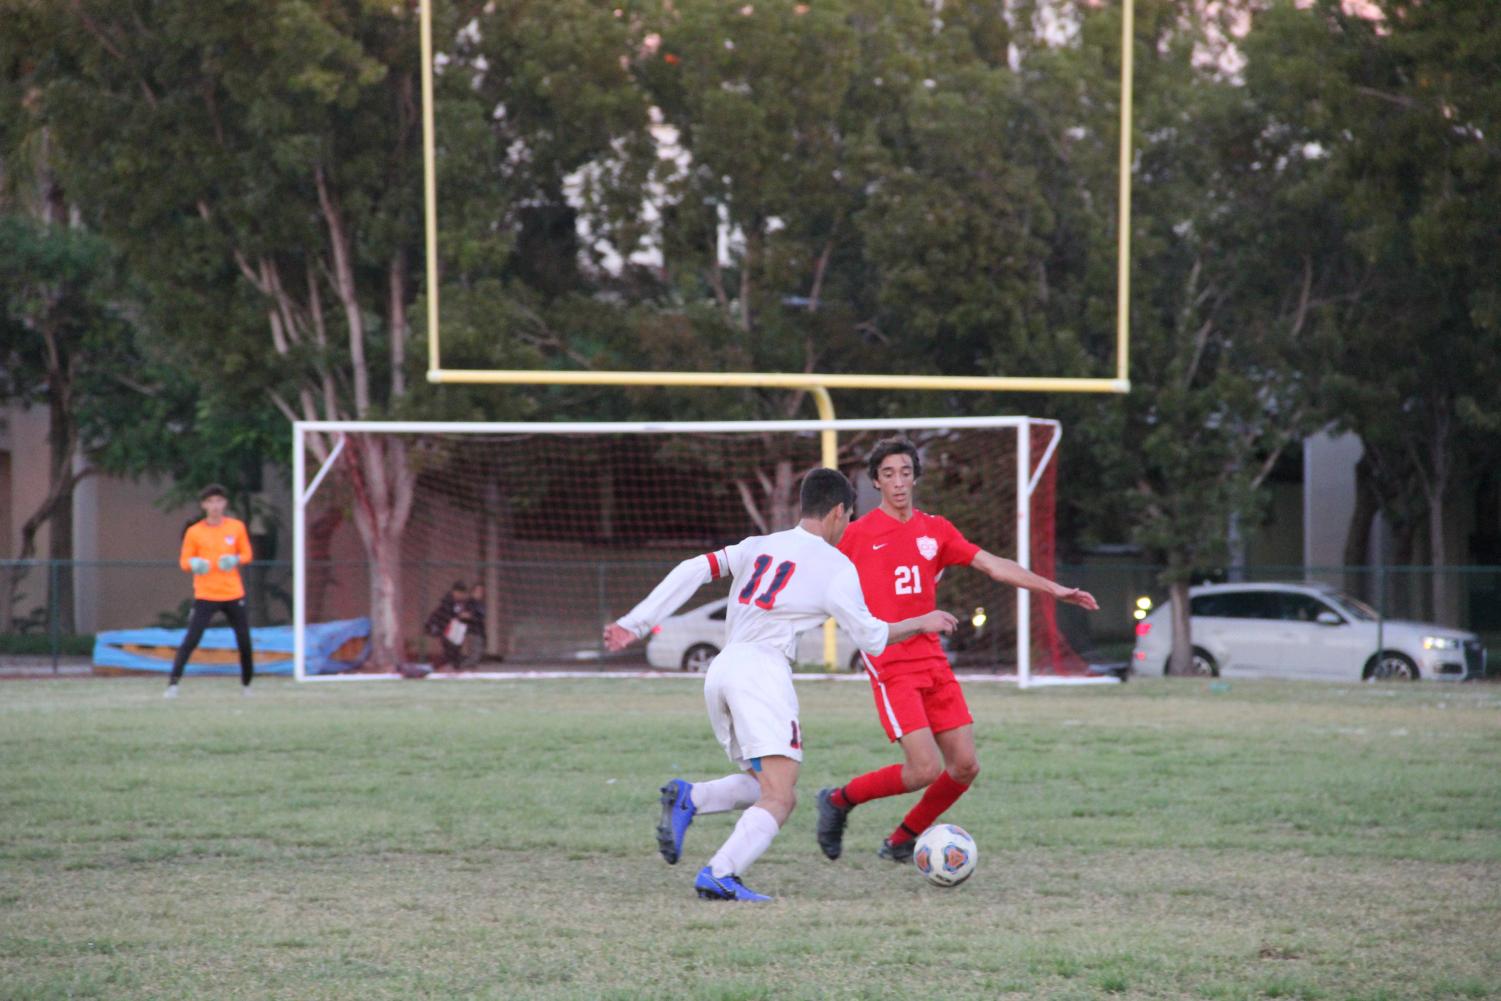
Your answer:
[[[865,603],[889,623],[925,615],[938,608],[938,575],[967,564],[980,551],[947,518],[914,510],[905,522],[880,507],[850,522],[839,551],[860,573]],[[919,633],[872,657],[877,669],[914,660],[944,659],[938,636]]]

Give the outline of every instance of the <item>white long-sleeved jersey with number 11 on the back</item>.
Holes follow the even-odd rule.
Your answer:
[[[755,644],[793,660],[797,635],[832,615],[860,650],[872,656],[886,650],[890,627],[866,608],[854,564],[802,527],[684,560],[618,624],[645,636],[693,591],[722,576],[731,578],[726,648]]]

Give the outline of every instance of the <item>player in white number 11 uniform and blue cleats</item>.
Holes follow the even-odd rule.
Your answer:
[[[669,864],[698,813],[743,809],[740,821],[698,876],[698,896],[716,900],[770,900],[741,882],[772,846],[796,804],[803,735],[793,689],[797,635],[830,615],[866,653],[917,633],[952,632],[949,612],[884,623],[871,615],[854,564],[835,548],[854,506],[854,488],[838,470],[803,477],[802,521],[796,528],[684,560],[618,621],[605,626],[605,645],[623,650],[675,612],[708,581],[729,576],[725,648],[704,675],[704,701],[714,737],[740,771],[713,782],[672,779],[662,786],[657,846]]]

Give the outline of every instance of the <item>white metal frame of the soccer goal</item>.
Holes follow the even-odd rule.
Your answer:
[[[1052,429],[1036,471],[1031,470],[1031,431],[1040,425]],[[943,431],[956,428],[1012,428],[1016,434],[1016,552],[1012,558],[1031,567],[1031,497],[1063,440],[1063,425],[1045,417],[908,417],[878,420],[717,420],[717,422],[417,422],[417,420],[297,420],[293,423],[293,677],[297,681],[374,680],[399,675],[306,672],[306,512],[324,476],[344,449],[345,432],[378,434],[734,434],[734,432],[841,432],[841,431]],[[329,458],[308,480],[308,435],[339,435]],[[1085,678],[1031,675],[1031,593],[1016,590],[1016,680],[1034,684],[1078,684]],[[1090,678],[1093,680],[1093,678]],[[1114,680],[1114,678],[1108,678]]]

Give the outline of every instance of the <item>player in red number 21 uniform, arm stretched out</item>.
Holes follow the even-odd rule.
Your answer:
[[[896,620],[934,611],[938,575],[956,564],[973,566],[1001,584],[1099,609],[1088,591],[1063,587],[986,552],[946,518],[917,510],[913,488],[922,476],[922,459],[917,446],[907,438],[880,441],[871,452],[869,474],[881,492],[881,506],[850,524],[839,551],[854,563],[874,615]],[[902,746],[905,761],[856,776],[839,788],[821,789],[818,846],[829,858],[838,858],[850,810],[869,800],[926,789],[878,852],[881,858],[910,861],[913,840],[953,806],[980,773],[974,755],[974,717],[937,636],[919,635],[892,644],[880,656],[866,654],[865,665],[881,726]]]

